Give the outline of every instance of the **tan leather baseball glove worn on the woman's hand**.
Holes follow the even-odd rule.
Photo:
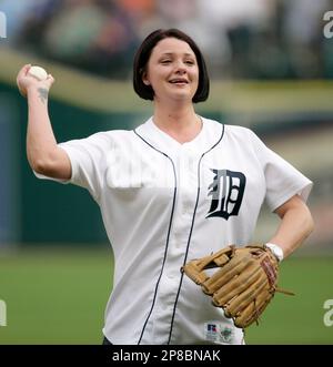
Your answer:
[[[210,268],[218,268],[212,275]],[[213,305],[222,307],[225,317],[240,328],[258,323],[279,289],[279,262],[263,245],[231,245],[210,256],[193,259],[182,267],[202,290],[212,296]]]

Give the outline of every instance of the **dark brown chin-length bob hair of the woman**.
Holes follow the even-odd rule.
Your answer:
[[[210,93],[210,80],[206,71],[206,65],[203,59],[203,55],[196,45],[196,43],[184,32],[178,29],[159,29],[150,33],[141,43],[140,48],[137,51],[133,63],[133,86],[134,91],[143,100],[153,101],[154,91],[151,85],[145,85],[142,81],[143,73],[151,55],[153,48],[165,38],[175,38],[181,41],[186,42],[190,48],[193,50],[196,62],[199,67],[199,84],[198,90],[192,99],[194,103],[203,102],[208,99]]]

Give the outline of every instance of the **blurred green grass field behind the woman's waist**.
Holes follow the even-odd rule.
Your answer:
[[[0,344],[101,344],[104,306],[112,284],[110,249],[34,249],[0,256],[0,299],[7,326]],[[290,258],[276,294],[248,344],[333,344],[323,323],[333,299],[333,257]]]

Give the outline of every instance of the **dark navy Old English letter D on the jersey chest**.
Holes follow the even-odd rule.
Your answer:
[[[206,218],[221,216],[225,221],[231,215],[238,215],[246,184],[246,177],[242,172],[229,170],[211,170],[214,173],[213,182],[209,186],[211,207]]]

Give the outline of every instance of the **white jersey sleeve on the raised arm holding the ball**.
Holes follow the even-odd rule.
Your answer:
[[[101,132],[87,139],[60,143],[58,146],[67,152],[71,162],[72,174],[69,181],[54,181],[84,187],[99,202],[108,154],[113,149],[111,134]],[[40,174],[36,175],[39,179],[50,179]]]

